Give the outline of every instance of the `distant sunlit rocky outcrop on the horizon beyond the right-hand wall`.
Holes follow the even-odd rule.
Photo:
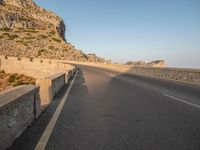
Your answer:
[[[149,63],[145,63],[144,61],[137,61],[137,62],[128,61],[126,65],[132,65],[135,67],[160,67],[160,68],[166,67],[166,63],[164,60],[155,60]]]

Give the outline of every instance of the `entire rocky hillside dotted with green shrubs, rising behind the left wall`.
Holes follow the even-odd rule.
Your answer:
[[[76,50],[63,20],[32,0],[0,0],[0,55],[105,62]]]

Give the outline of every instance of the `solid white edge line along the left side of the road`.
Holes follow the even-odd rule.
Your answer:
[[[67,100],[67,97],[69,95],[69,92],[74,84],[74,81],[76,79],[76,76],[77,76],[77,73],[76,75],[74,76],[74,79],[72,80],[70,86],[68,87],[65,95],[63,96],[62,100],[60,101],[60,104],[58,105],[55,113],[53,114],[53,117],[51,118],[48,126],[46,127],[45,131],[43,132],[42,136],[40,137],[40,140],[39,142],[37,143],[36,147],[35,147],[35,150],[44,150],[46,145],[47,145],[47,142],[51,136],[51,133],[56,125],[56,122],[57,122],[57,119],[63,109],[63,106]]]

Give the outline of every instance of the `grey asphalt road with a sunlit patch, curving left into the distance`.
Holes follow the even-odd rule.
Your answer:
[[[77,67],[47,150],[200,150],[200,85]],[[58,104],[11,149],[34,148]]]

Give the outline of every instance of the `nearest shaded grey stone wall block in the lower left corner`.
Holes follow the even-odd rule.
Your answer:
[[[41,113],[39,87],[26,85],[0,93],[0,149],[12,142]]]

